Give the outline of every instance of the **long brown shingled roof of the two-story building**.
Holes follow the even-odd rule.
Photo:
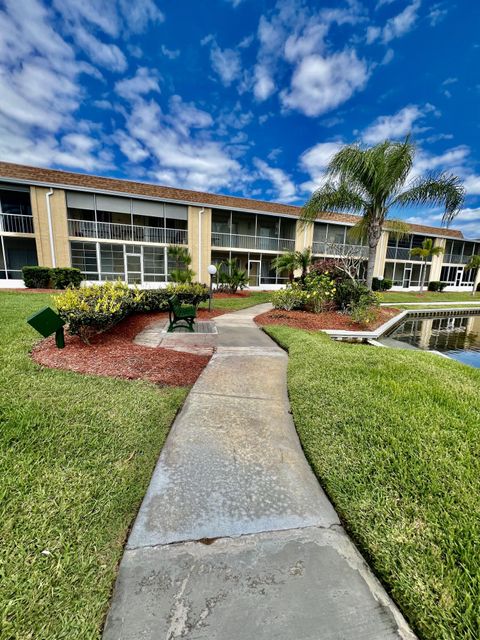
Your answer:
[[[236,196],[224,196],[216,193],[206,193],[204,191],[191,191],[177,187],[165,187],[148,182],[104,178],[85,173],[59,171],[58,169],[44,169],[11,162],[0,162],[0,180],[2,179],[21,182],[23,184],[116,193],[119,195],[169,200],[197,206],[218,207],[221,209],[243,209],[246,211],[288,216],[299,216],[301,211],[301,207],[295,205],[268,202],[265,200],[253,200],[251,198],[239,198]],[[359,219],[358,216],[351,214],[331,212],[321,213],[318,218],[319,220],[345,224],[355,224]],[[412,232],[419,234],[463,238],[463,233],[458,229],[428,227],[418,224],[411,224],[409,226]]]

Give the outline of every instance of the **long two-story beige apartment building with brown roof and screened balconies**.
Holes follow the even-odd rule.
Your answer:
[[[173,268],[171,246],[188,248],[201,282],[209,280],[209,264],[236,258],[250,286],[263,289],[285,284],[272,262],[286,251],[366,258],[367,248],[349,239],[356,216],[319,213],[303,228],[299,214],[292,205],[0,162],[0,286],[21,286],[22,267],[34,264],[78,267],[88,281],[161,286]],[[457,229],[410,231],[402,240],[383,232],[376,276],[395,288],[418,288],[420,260],[411,249],[433,238],[445,252],[428,264],[427,281],[442,280],[450,290],[472,286],[475,273],[464,267],[480,254],[479,241]]]

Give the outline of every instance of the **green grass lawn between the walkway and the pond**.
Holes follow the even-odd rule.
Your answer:
[[[287,327],[306,456],[424,640],[480,638],[480,370]]]

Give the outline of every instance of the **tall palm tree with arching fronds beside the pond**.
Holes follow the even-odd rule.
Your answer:
[[[374,147],[359,144],[341,149],[327,168],[327,181],[304,205],[301,221],[312,224],[322,211],[361,214],[357,237],[368,243],[367,285],[371,289],[375,256],[382,227],[390,210],[400,206],[441,205],[448,225],[462,206],[465,189],[446,173],[418,177],[408,182],[415,145],[386,140]]]

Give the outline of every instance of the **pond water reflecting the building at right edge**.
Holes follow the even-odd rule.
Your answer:
[[[440,351],[464,364],[480,368],[480,314],[407,317],[389,338],[418,349]]]

